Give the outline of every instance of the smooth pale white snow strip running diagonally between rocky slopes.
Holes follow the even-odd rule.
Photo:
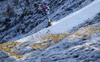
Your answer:
[[[45,28],[33,35],[16,40],[16,42],[31,41],[37,37],[42,37],[52,34],[68,33],[73,27],[84,23],[86,20],[91,20],[95,17],[97,13],[100,12],[100,0],[95,0],[86,7],[60,19],[55,25]]]

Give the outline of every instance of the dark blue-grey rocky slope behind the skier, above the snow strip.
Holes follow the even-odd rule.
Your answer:
[[[33,5],[40,0],[0,0],[0,43],[23,38],[47,26],[45,16],[37,14]],[[93,0],[72,0],[73,11],[77,11]],[[43,1],[42,1],[43,2]],[[45,2],[45,0],[44,0]],[[46,0],[51,8],[49,18],[57,21],[71,13],[69,0]]]

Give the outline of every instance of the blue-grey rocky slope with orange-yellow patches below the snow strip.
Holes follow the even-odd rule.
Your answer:
[[[65,34],[0,44],[0,62],[99,62],[100,14]]]

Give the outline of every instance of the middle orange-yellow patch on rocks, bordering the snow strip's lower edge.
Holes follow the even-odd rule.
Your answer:
[[[38,40],[40,39],[47,39],[45,41],[41,41],[43,42],[42,44],[32,44],[30,45],[32,48],[37,48],[37,49],[41,49],[43,48],[44,46],[47,46],[51,43],[58,43],[59,41],[61,41],[63,38],[65,38],[66,36],[68,35],[71,35],[70,34],[51,34],[51,35],[47,35],[47,36],[44,36],[44,37],[40,37],[40,38],[37,38]],[[49,42],[49,40],[51,40],[52,42]]]

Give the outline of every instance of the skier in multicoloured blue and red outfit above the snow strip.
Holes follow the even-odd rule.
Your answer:
[[[51,26],[51,21],[48,18],[48,14],[49,14],[50,8],[46,4],[40,3],[40,2],[37,3],[37,4],[34,4],[34,7],[38,11],[39,14],[42,13],[42,15],[46,15],[47,16],[47,19],[49,20],[48,26]]]

